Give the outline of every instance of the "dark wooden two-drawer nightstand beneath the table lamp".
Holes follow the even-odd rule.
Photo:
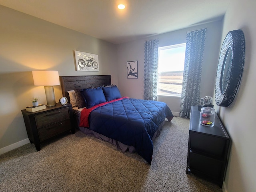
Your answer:
[[[75,133],[73,110],[71,104],[62,105],[56,103],[56,106],[47,107],[46,109],[27,112],[21,110],[28,139],[34,143],[36,150],[40,151],[42,141],[52,138],[58,134],[71,130]]]

